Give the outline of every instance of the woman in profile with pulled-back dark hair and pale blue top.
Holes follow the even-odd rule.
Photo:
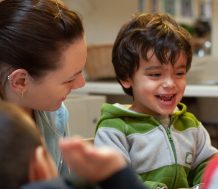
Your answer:
[[[84,86],[84,30],[79,16],[55,0],[0,2],[0,96],[36,122],[61,174],[57,142],[67,135],[67,95]]]

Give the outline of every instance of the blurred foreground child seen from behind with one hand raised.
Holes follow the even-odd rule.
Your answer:
[[[72,138],[62,139],[60,148],[69,167],[91,185],[77,177],[58,178],[33,120],[15,105],[0,101],[1,189],[94,189],[94,183],[102,189],[145,189],[113,150]]]

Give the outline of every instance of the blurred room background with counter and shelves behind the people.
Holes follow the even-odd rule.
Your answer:
[[[64,0],[64,2],[80,14],[88,43],[87,64],[84,70],[87,84],[78,91],[76,100],[72,98],[73,94],[67,99],[67,106],[71,112],[72,134],[94,136],[102,103],[131,103],[131,98],[124,95],[117,84],[111,63],[111,50],[120,27],[139,12],[167,12],[192,34],[194,58],[188,73],[188,90],[183,102],[187,104],[188,110],[203,122],[213,144],[218,147],[217,0]],[[80,103],[77,103],[78,99]],[[78,120],[81,114],[85,115]],[[74,126],[75,124],[78,126]]]

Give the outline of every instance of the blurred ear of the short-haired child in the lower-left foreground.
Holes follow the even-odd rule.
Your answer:
[[[57,169],[48,151],[43,146],[35,150],[29,165],[29,182],[49,180],[57,176]]]

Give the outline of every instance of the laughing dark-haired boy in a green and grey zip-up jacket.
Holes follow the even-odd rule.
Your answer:
[[[201,182],[217,153],[208,132],[180,103],[191,66],[190,35],[166,14],[140,14],[120,30],[112,62],[131,105],[105,104],[95,145],[120,151],[151,188]]]

